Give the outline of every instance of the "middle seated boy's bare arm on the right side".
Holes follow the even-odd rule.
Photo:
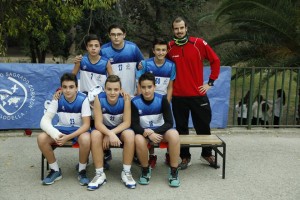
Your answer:
[[[112,131],[116,134],[121,133],[125,129],[130,127],[131,124],[131,101],[129,94],[124,95],[124,113],[123,113],[123,122],[119,124],[116,128],[112,129]]]

